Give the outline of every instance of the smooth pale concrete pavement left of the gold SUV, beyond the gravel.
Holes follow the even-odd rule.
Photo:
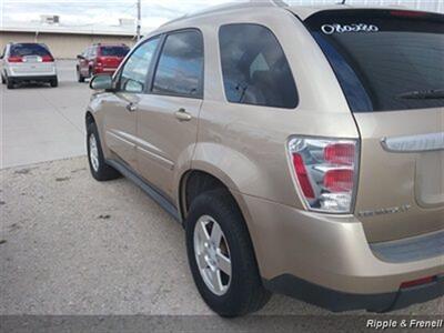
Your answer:
[[[91,94],[75,62],[57,62],[59,87],[0,84],[0,168],[84,154],[84,110]]]

